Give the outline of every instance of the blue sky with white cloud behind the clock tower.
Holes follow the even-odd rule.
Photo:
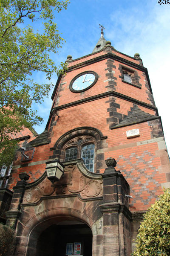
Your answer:
[[[71,0],[68,9],[55,17],[59,33],[66,41],[57,55],[51,55],[56,64],[65,62],[67,55],[75,59],[91,53],[100,37],[99,24],[105,27],[105,39],[118,51],[130,56],[139,52],[149,72],[170,152],[170,5],[160,5],[158,0]],[[38,73],[34,79],[46,82],[45,76]],[[51,81],[55,84],[57,76]],[[44,131],[51,104],[49,97],[37,106],[44,118],[43,125],[34,127],[38,133]]]

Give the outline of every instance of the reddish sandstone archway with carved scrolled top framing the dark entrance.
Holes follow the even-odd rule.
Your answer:
[[[26,187],[17,220],[14,255],[37,255],[38,238],[44,230],[62,221],[70,221],[71,224],[78,221],[91,229],[95,255],[96,237],[102,233],[103,216],[99,207],[102,201],[102,177],[88,172],[80,162],[66,168],[63,180],[55,186],[50,186],[44,175]],[[65,191],[62,190],[65,187]]]

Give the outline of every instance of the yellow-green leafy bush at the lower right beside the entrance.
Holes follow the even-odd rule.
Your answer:
[[[170,256],[170,189],[145,214],[133,256]]]

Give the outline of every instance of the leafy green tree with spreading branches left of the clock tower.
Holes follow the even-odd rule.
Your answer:
[[[52,73],[58,75],[65,69],[63,63],[56,67],[49,52],[57,53],[64,41],[54,23],[54,11],[67,9],[68,2],[0,0],[0,152],[5,164],[9,159],[3,151],[9,148],[9,134],[42,121],[31,106],[48,96],[52,84],[38,84],[31,75],[40,71],[50,80]],[[38,24],[40,31],[29,23]]]

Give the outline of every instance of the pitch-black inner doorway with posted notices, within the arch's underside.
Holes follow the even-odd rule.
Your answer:
[[[51,225],[37,241],[36,256],[92,256],[92,232],[86,224]]]

